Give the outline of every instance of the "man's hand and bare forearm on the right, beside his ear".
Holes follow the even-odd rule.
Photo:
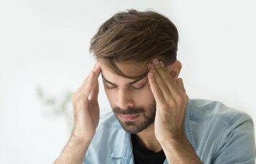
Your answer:
[[[154,130],[168,163],[201,164],[184,133],[184,117],[189,100],[181,78],[175,80],[164,63],[154,59],[148,80],[157,101]]]

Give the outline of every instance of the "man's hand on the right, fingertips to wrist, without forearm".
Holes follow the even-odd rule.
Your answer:
[[[183,124],[187,110],[188,95],[182,79],[177,81],[170,75],[162,61],[157,58],[149,67],[148,79],[154,98],[157,101],[157,113],[154,130],[161,143],[184,135]]]

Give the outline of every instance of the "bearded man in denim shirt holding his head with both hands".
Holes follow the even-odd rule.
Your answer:
[[[72,95],[74,128],[56,163],[255,163],[252,118],[217,101],[189,99],[178,31],[157,12],[113,15],[91,39],[97,63]],[[113,112],[100,114],[102,75]]]

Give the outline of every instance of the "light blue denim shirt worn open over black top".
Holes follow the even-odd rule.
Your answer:
[[[184,131],[204,164],[255,163],[253,121],[244,112],[219,101],[189,99]],[[134,164],[131,135],[112,111],[101,114],[84,163]]]

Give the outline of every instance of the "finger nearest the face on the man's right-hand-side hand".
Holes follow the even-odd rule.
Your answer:
[[[157,103],[163,104],[165,102],[165,99],[163,98],[162,92],[159,90],[159,87],[157,86],[157,82],[151,71],[148,72],[148,82]]]

